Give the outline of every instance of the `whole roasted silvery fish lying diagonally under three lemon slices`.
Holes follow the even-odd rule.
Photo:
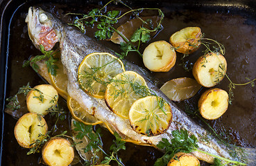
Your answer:
[[[160,89],[158,89],[154,82],[144,69],[139,68],[131,62],[123,60],[126,70],[135,71],[142,75],[147,82],[148,87],[155,92],[156,95],[164,98],[171,106],[173,111],[173,121],[169,129],[165,133],[158,136],[145,136],[135,132],[130,127],[129,120],[120,118],[115,113],[108,109],[105,101],[97,99],[85,93],[78,84],[78,66],[83,61],[86,55],[90,53],[111,53],[114,52],[101,44],[98,44],[94,39],[91,39],[80,33],[67,24],[63,24],[59,19],[53,17],[51,13],[45,12],[41,8],[31,7],[28,10],[26,17],[28,23],[28,35],[31,38],[35,47],[39,48],[40,44],[44,46],[45,50],[51,50],[57,42],[60,43],[61,61],[66,68],[68,76],[68,93],[76,100],[81,107],[86,108],[88,113],[95,116],[99,120],[108,124],[114,131],[117,131],[119,135],[126,140],[134,140],[139,144],[149,145],[156,147],[157,143],[162,138],[171,140],[173,138],[171,131],[176,129],[187,129],[189,134],[194,134],[198,139],[199,149],[207,151],[210,154],[215,154],[224,158],[230,158],[232,160],[240,160],[241,156],[232,158],[228,151],[228,147],[225,147],[214,136],[208,133],[203,127],[200,127],[196,122],[191,120],[182,110],[178,109],[166,95],[164,95]],[[253,148],[239,147],[239,149],[247,154],[247,164],[251,166],[256,165],[256,150]],[[213,163],[214,158],[207,154],[203,154],[198,151],[192,152],[198,159],[205,160],[207,163]]]

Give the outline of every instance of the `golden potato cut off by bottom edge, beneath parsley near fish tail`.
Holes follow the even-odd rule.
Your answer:
[[[176,158],[176,159],[174,159]],[[178,160],[177,160],[178,158]],[[169,161],[167,166],[198,166],[200,165],[199,160],[192,154],[185,154],[183,152],[178,152]]]

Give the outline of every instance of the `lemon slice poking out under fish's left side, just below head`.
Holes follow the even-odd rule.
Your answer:
[[[55,54],[56,57],[60,58],[60,51]],[[51,84],[58,91],[58,93],[67,100],[67,74],[64,72],[64,67],[61,60],[59,59],[54,63],[58,68],[56,69],[56,76],[49,73]]]

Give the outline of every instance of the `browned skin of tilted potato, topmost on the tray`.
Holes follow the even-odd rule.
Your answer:
[[[187,27],[187,28],[192,28],[192,27]],[[182,33],[180,32],[180,30],[176,33],[173,33],[173,35],[171,35],[169,42],[173,47],[178,48],[176,50],[177,52],[183,53],[183,54],[191,54],[191,53],[194,53],[200,47],[200,44],[201,44],[200,39],[202,37],[201,29],[199,27],[193,27],[193,28],[196,28],[196,30],[194,30],[193,33],[191,33],[191,37],[193,39],[187,39],[187,42],[183,42],[183,41],[176,42],[173,40],[174,35],[176,35],[177,33]]]

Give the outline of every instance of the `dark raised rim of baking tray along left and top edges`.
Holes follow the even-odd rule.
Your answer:
[[[65,0],[56,0],[58,1],[57,3],[60,2],[65,2]],[[75,0],[77,1],[77,0]],[[78,0],[79,1],[79,0]],[[128,0],[126,0],[128,1]],[[144,0],[137,0],[137,2],[141,2]],[[39,0],[36,3],[50,3],[51,0]],[[74,1],[71,1],[74,3]],[[148,0],[147,2],[155,2],[155,0]],[[13,4],[15,3],[15,4]],[[5,100],[6,100],[6,77],[8,75],[8,43],[9,39],[6,37],[6,33],[10,35],[10,29],[8,29],[8,26],[10,22],[12,21],[12,17],[8,15],[8,12],[11,12],[12,15],[15,14],[17,9],[24,5],[25,3],[33,3],[33,0],[0,0],[0,108],[1,108],[1,113],[0,113],[0,121],[1,121],[1,136],[0,136],[0,165],[2,163],[2,156],[3,156],[3,131],[4,131],[4,116],[5,113],[3,112],[4,106],[5,106]],[[94,0],[87,0],[87,3],[95,3]],[[240,13],[239,15],[245,15],[246,13],[250,13],[250,16],[254,18],[256,17],[256,1],[255,0],[203,0],[203,1],[198,1],[195,0],[194,2],[190,2],[187,0],[162,0],[160,1],[162,4],[172,4],[180,7],[185,7],[185,8],[210,8],[210,7],[217,7],[221,8],[223,10],[239,10]],[[11,7],[14,5],[16,8]],[[7,12],[7,13],[6,13]],[[255,25],[256,26],[256,25]],[[7,38],[7,39],[6,39]]]

